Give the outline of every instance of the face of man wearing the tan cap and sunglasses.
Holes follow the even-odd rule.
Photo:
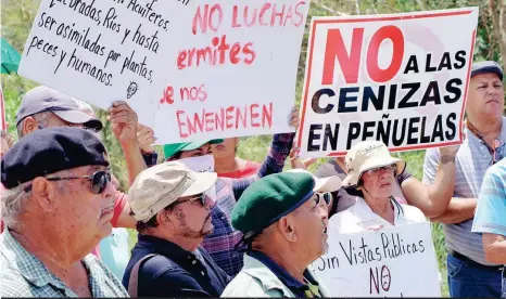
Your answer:
[[[203,238],[213,233],[211,209],[214,202],[205,195],[197,194],[177,199],[169,212],[176,234],[187,238]]]

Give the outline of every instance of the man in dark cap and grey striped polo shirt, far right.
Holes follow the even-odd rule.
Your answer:
[[[465,142],[456,157],[454,191],[446,211],[432,221],[443,223],[446,237],[448,287],[452,297],[501,297],[503,265],[490,262],[481,236],[471,233],[472,219],[486,169],[506,156],[506,117],[503,116],[503,69],[495,62],[475,63],[467,99]],[[423,182],[434,181],[438,165],[447,161],[437,150],[426,153]],[[455,188],[455,190],[454,190]]]

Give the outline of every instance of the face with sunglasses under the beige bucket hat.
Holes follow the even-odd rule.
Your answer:
[[[394,165],[370,169],[362,174],[364,192],[374,197],[385,198],[392,195],[394,183]]]

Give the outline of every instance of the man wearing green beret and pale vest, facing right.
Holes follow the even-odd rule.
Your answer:
[[[314,186],[309,173],[284,172],[246,188],[231,214],[248,245],[244,266],[222,297],[326,297],[307,269],[328,247],[328,214]]]

